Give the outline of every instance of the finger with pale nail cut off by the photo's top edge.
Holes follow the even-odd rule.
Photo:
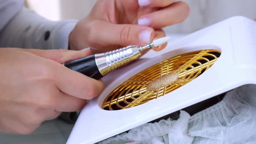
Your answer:
[[[167,7],[175,0],[138,0],[141,7]]]

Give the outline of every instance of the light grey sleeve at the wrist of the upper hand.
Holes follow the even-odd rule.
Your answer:
[[[23,7],[0,32],[0,47],[67,49],[77,20],[50,21]]]

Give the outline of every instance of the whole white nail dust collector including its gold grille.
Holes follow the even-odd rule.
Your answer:
[[[102,94],[81,111],[67,144],[93,144],[241,85],[256,84],[255,37],[256,22],[232,17],[112,72],[103,78]],[[170,84],[147,89],[172,73],[178,75]]]

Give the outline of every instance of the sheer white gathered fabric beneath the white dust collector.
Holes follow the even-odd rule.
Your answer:
[[[256,144],[256,85],[227,92],[195,115],[143,124],[99,144]]]

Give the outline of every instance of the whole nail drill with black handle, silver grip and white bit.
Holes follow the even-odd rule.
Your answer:
[[[91,56],[86,56],[81,59],[76,59],[71,62],[67,62],[64,65],[74,71],[80,72],[87,75],[93,79],[101,79],[103,76],[107,75],[115,69],[118,69],[135,59],[141,57],[141,52],[144,49],[153,48],[156,46],[161,46],[170,37],[163,37],[156,39],[153,43],[147,46],[126,46],[121,49],[116,49],[106,53],[99,53]]]

